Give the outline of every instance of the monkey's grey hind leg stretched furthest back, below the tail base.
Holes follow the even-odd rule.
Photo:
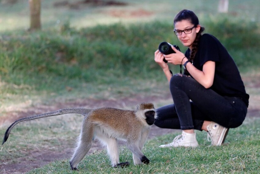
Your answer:
[[[77,143],[77,147],[70,160],[70,167],[72,170],[78,170],[77,165],[86,156],[87,152],[92,146],[94,129],[93,126],[91,126],[91,124],[88,124],[86,122],[87,121],[84,121],[83,123],[82,130]]]

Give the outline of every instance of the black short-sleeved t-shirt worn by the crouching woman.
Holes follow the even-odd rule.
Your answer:
[[[190,56],[190,49],[186,51],[185,56]],[[193,65],[202,71],[203,64],[207,61],[216,63],[214,81],[210,89],[221,96],[240,97],[248,107],[249,95],[246,93],[236,63],[217,38],[203,34]]]

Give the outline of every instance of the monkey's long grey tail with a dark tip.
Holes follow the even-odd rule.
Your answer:
[[[65,109],[60,109],[58,111],[53,111],[53,112],[48,112],[48,113],[44,113],[44,114],[34,115],[32,117],[20,118],[20,119],[16,120],[15,122],[13,122],[13,124],[10,125],[9,128],[6,130],[6,133],[5,133],[2,145],[8,139],[8,136],[9,136],[11,130],[13,129],[13,127],[15,125],[17,125],[18,123],[22,122],[22,121],[35,120],[35,119],[38,119],[38,118],[44,118],[44,117],[50,117],[50,116],[62,115],[62,114],[81,114],[81,115],[84,115],[84,114],[87,114],[87,113],[89,113],[91,111],[92,111],[92,109],[86,109],[86,108],[65,108]]]

